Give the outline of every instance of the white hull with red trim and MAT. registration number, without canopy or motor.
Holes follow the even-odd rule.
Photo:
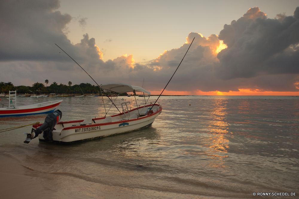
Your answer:
[[[141,110],[141,108],[139,108],[139,111]],[[144,110],[146,111],[147,108],[145,108]],[[135,113],[136,112],[138,112],[137,109],[135,110]],[[80,121],[83,120],[58,123],[57,126],[55,126],[55,129],[52,131],[53,142],[60,143],[60,144],[75,144],[84,141],[98,139],[101,137],[122,134],[140,128],[147,128],[154,122],[155,118],[159,114],[161,114],[161,112],[162,112],[162,107],[158,106],[156,111],[153,112],[152,114],[145,115],[139,118],[121,119],[118,121],[112,119],[112,122],[109,123],[95,123],[97,121],[101,121],[104,119],[104,118],[98,118],[92,120],[94,123],[90,123],[87,125],[76,125],[76,126],[72,126],[72,124],[75,123],[79,124]],[[130,111],[130,113],[133,114],[134,112]],[[113,117],[120,118],[122,116],[123,114],[118,114],[112,116],[112,118]],[[62,128],[61,127],[62,124],[63,126],[68,126],[68,127]],[[39,125],[33,125],[33,127],[37,128]],[[39,137],[39,141],[47,142],[43,138],[42,134],[39,134],[38,137]]]

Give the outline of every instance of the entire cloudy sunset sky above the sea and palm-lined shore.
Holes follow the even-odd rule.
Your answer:
[[[299,1],[0,2],[0,82],[299,95]],[[60,48],[58,48],[57,44]]]

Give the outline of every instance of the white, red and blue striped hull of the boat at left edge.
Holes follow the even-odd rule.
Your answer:
[[[19,106],[16,108],[0,108],[0,117],[51,113],[61,102],[62,100],[56,100],[28,106]]]

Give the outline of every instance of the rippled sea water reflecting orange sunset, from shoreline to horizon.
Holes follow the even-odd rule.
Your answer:
[[[12,132],[5,139],[0,135],[0,150],[39,169],[43,179],[53,178],[57,186],[75,179],[82,180],[84,189],[90,182],[167,193],[223,195],[225,190],[237,198],[261,189],[297,189],[298,100],[228,98],[162,97],[162,114],[146,129],[72,146],[38,141],[24,145]],[[63,121],[105,113],[100,100],[65,100],[59,106]],[[118,113],[113,107],[110,111]],[[10,122],[17,121],[5,120]]]

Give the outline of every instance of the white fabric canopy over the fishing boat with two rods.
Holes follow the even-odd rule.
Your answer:
[[[105,89],[105,90],[110,90],[113,92],[117,93],[127,93],[127,92],[144,92],[146,94],[150,95],[150,92],[145,90],[144,88],[141,88],[139,86],[132,86],[129,84],[122,84],[122,83],[108,83],[108,84],[103,84],[100,86],[100,88]]]

